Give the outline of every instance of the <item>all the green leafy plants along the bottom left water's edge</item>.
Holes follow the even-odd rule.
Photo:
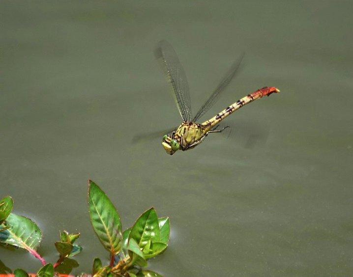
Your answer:
[[[55,242],[59,252],[56,263],[47,263],[37,252],[42,240],[40,228],[29,218],[12,213],[13,199],[5,196],[0,199],[0,243],[9,247],[26,249],[42,263],[35,274],[40,277],[59,276],[58,266],[82,251],[75,242],[80,233],[59,232]],[[160,277],[161,275],[144,269],[147,259],[163,252],[170,235],[169,218],[158,218],[154,208],[148,209],[124,231],[120,216],[106,194],[93,181],[88,181],[88,212],[91,224],[103,247],[110,253],[110,264],[103,266],[99,258],[93,261],[94,277]],[[74,260],[71,260],[74,261]],[[70,270],[71,271],[71,270]],[[7,272],[11,273],[9,269]],[[16,277],[29,276],[23,269],[16,269]],[[66,275],[67,276],[67,275]]]

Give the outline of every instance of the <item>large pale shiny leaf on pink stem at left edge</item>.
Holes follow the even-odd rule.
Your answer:
[[[23,216],[10,214],[4,223],[10,228],[0,232],[0,242],[28,251],[37,249],[42,232],[34,222]]]

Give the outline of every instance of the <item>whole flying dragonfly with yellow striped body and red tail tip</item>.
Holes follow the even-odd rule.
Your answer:
[[[234,62],[225,77],[208,97],[204,105],[201,106],[195,116],[192,116],[191,112],[189,85],[186,75],[174,48],[169,42],[163,40],[157,45],[154,54],[157,60],[160,61],[162,69],[170,83],[176,100],[176,106],[183,120],[180,126],[172,133],[163,136],[162,145],[169,155],[173,155],[177,150],[186,151],[195,148],[203,142],[209,134],[220,133],[228,128],[229,126],[221,129],[219,128],[219,123],[228,115],[256,99],[279,92],[279,89],[274,86],[263,87],[236,101],[234,104],[228,106],[204,123],[198,124],[195,122],[213,106],[220,93],[232,81],[235,73],[239,69],[244,54]]]

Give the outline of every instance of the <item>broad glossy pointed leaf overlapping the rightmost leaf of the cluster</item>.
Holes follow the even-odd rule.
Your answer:
[[[132,238],[141,249],[148,247],[149,242],[160,240],[158,218],[154,208],[148,209],[135,222],[129,234],[129,241]]]

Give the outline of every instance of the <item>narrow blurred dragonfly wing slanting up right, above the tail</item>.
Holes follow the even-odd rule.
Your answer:
[[[204,105],[200,108],[200,110],[197,112],[195,117],[192,119],[193,122],[196,122],[201,116],[203,116],[206,111],[208,111],[214,103],[217,102],[220,94],[224,89],[228,86],[229,83],[231,83],[233,77],[235,76],[235,73],[239,69],[241,60],[243,59],[245,53],[243,53],[236,61],[233,63],[232,67],[228,70],[226,76],[223,78],[223,80],[219,83],[219,85],[216,87],[216,89],[212,92],[212,94],[209,96],[207,101],[205,102]]]

